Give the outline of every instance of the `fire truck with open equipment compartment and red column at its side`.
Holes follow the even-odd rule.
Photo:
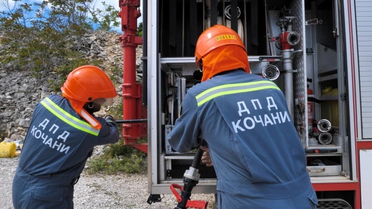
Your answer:
[[[150,202],[182,185],[194,160],[194,151],[177,153],[166,138],[184,95],[200,80],[196,41],[223,24],[242,38],[251,73],[283,91],[318,208],[372,208],[371,0],[143,0],[142,11],[139,0],[119,2],[123,138],[148,154]],[[141,15],[143,39],[136,36]],[[142,84],[135,75],[138,45]],[[145,135],[147,144],[137,144]],[[192,192],[216,193],[213,167],[200,165],[199,173]]]

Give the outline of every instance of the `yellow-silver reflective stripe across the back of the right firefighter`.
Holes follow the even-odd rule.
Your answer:
[[[200,93],[199,95],[196,96],[196,101],[198,102],[198,106],[200,106],[208,102],[209,100],[219,96],[239,94],[245,92],[254,92],[268,88],[274,88],[280,91],[280,88],[275,83],[268,80],[254,81],[248,83],[224,84],[209,88],[206,91]]]

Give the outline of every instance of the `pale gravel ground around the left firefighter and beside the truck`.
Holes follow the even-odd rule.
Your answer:
[[[18,164],[18,157],[0,158],[0,209],[13,209],[12,182]],[[169,208],[173,209],[176,199],[165,194],[162,202],[148,204],[147,174],[88,175],[83,172],[74,188],[74,208]],[[163,196],[163,195],[162,195]],[[194,194],[193,200],[207,200],[208,208],[214,202],[213,194]]]

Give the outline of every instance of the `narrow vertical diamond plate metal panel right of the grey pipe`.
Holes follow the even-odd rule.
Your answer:
[[[294,99],[295,99],[295,126],[301,138],[303,146],[305,146],[308,136],[307,129],[307,91],[306,91],[306,33],[305,33],[305,6],[304,0],[295,0],[290,4],[291,15],[297,17],[293,24],[293,31],[300,35],[300,42],[295,47],[295,50],[303,50],[297,53],[294,58],[293,68],[298,70],[294,73]]]

